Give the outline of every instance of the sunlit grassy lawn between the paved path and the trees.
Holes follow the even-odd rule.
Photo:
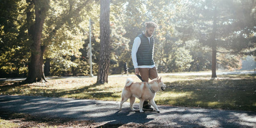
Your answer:
[[[135,75],[129,77],[140,81]],[[49,79],[24,85],[20,81],[0,81],[0,94],[121,101],[126,78],[111,76],[106,84],[96,84],[96,77]],[[219,75],[214,80],[210,76],[163,75],[162,80],[168,87],[157,92],[157,105],[256,111],[256,74]]]

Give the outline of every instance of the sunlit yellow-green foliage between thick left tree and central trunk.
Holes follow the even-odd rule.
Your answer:
[[[52,75],[86,75],[88,58],[80,49],[86,50],[87,47],[89,18],[93,21],[93,41],[97,39],[96,42],[92,42],[92,47],[99,44],[98,3],[99,1],[96,0],[51,1],[49,16],[44,27],[43,43],[48,47],[44,57],[50,58]],[[93,56],[97,55],[96,51],[93,53]],[[98,61],[93,62],[98,70]],[[94,70],[94,72],[97,71]]]

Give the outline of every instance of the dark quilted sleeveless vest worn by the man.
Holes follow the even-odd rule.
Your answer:
[[[141,43],[138,51],[136,53],[138,66],[141,65],[154,65],[153,60],[153,46],[154,38],[150,37],[150,43],[145,34],[138,35],[140,37]]]

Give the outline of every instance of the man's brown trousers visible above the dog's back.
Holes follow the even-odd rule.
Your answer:
[[[148,78],[150,80],[152,79],[155,79],[158,77],[158,71],[157,71],[157,68],[154,67],[154,68],[139,68],[139,72],[140,72],[140,75],[141,75],[141,78],[143,81],[148,81]]]

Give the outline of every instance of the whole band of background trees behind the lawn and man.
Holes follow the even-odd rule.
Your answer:
[[[0,77],[89,75],[100,56],[100,0],[1,0]],[[234,70],[256,55],[256,0],[111,0],[110,70],[121,74],[144,23],[158,24],[158,72]],[[215,74],[214,74],[215,73]]]

